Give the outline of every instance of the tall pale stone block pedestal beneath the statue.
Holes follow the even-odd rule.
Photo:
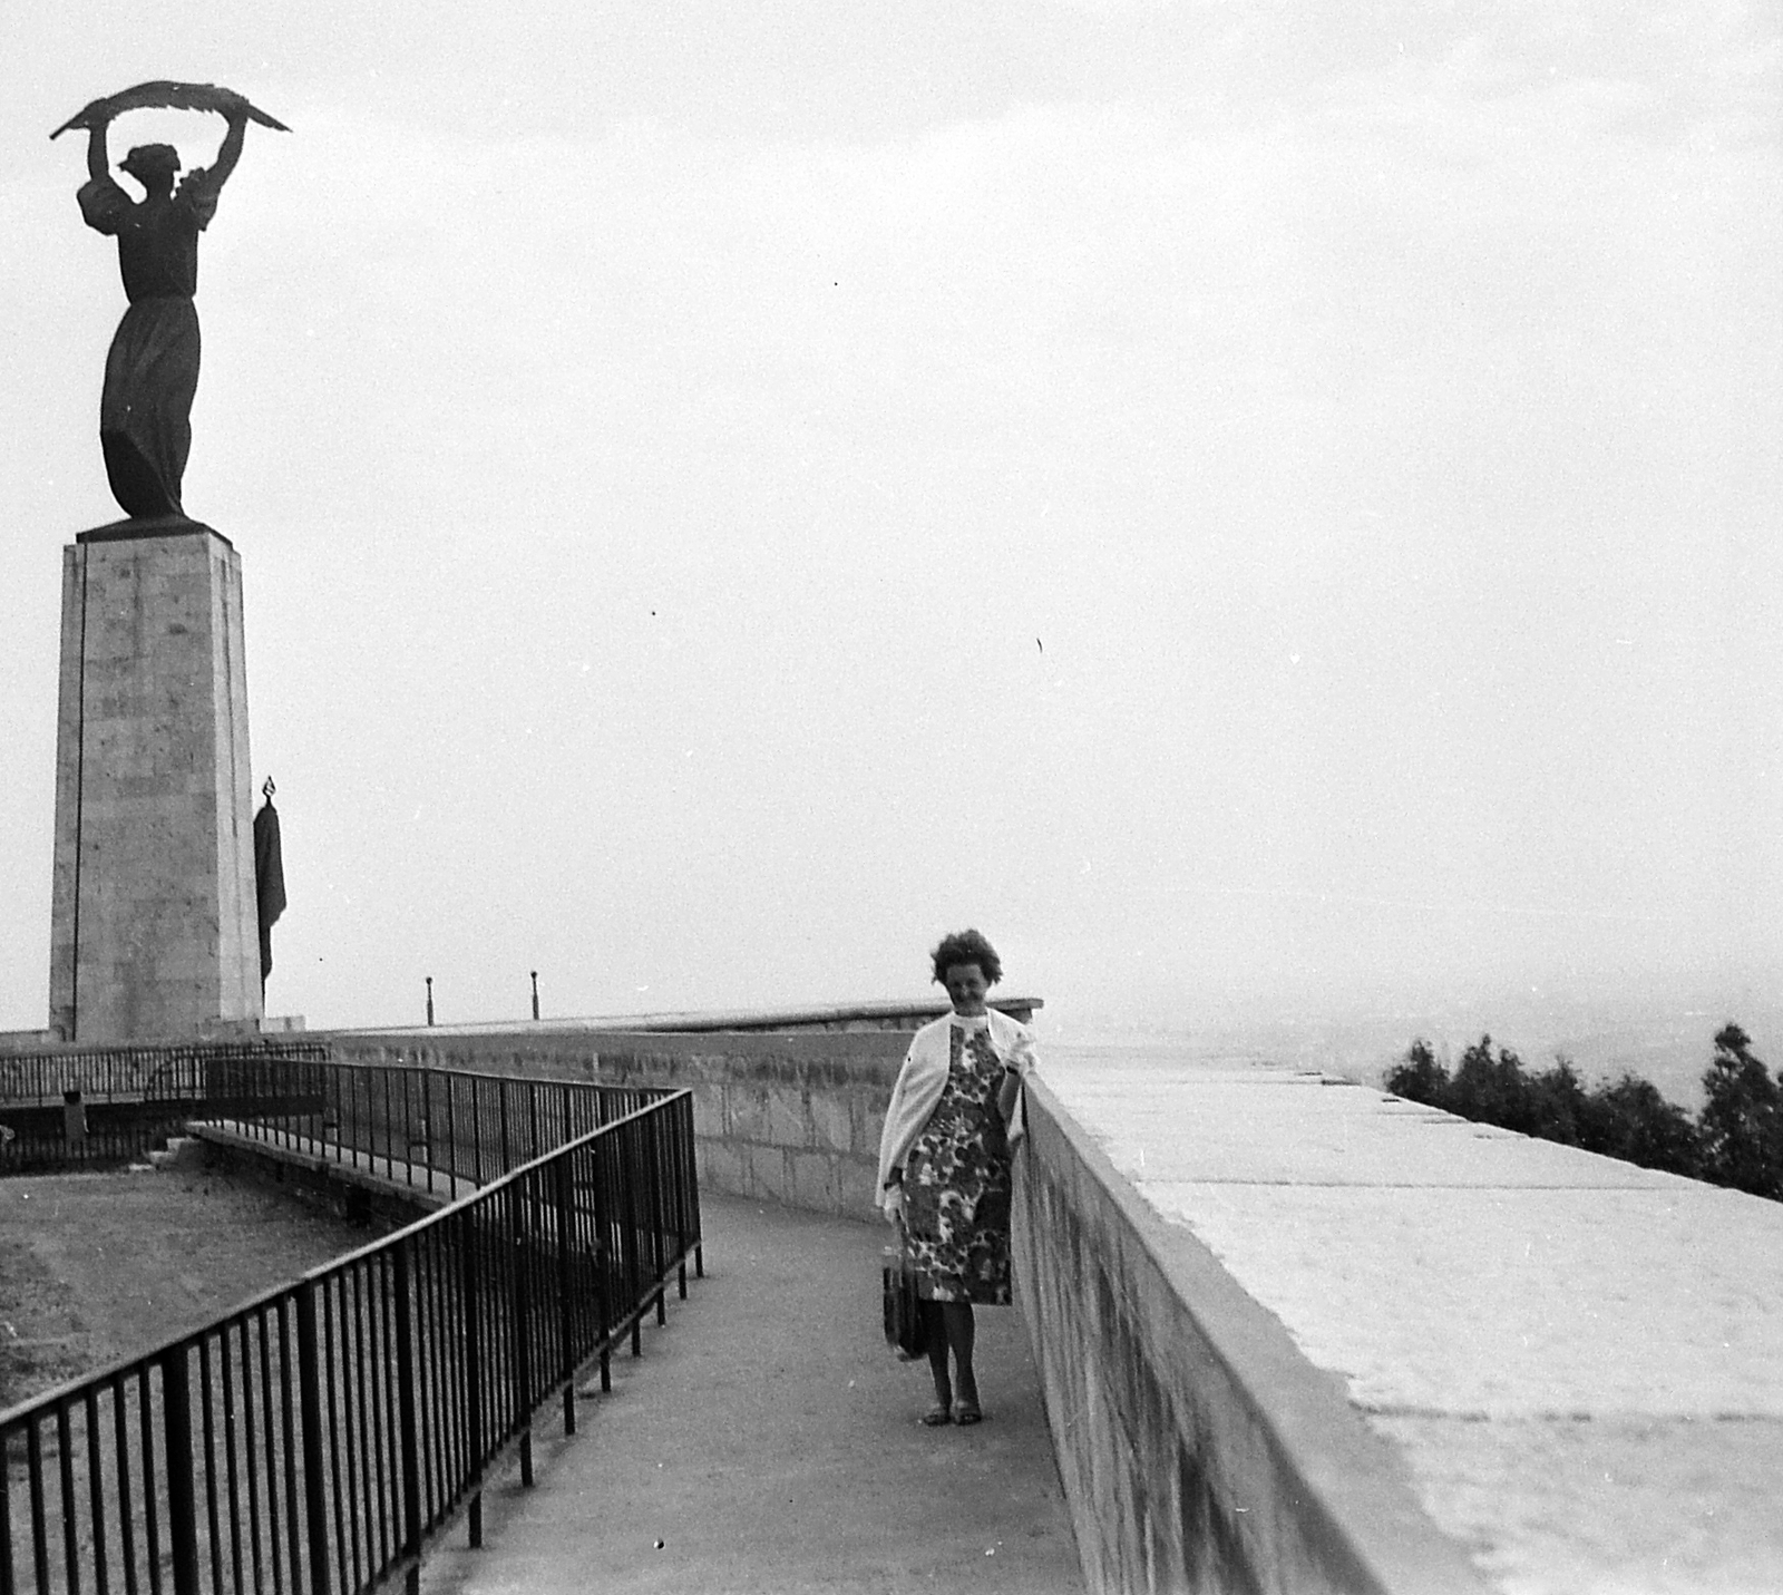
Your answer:
[[[62,550],[50,1029],[259,1028],[241,558],[196,521]]]

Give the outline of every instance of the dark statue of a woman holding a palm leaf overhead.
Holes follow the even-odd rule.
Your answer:
[[[228,134],[216,164],[180,171],[171,145],[139,145],[123,157],[127,171],[146,189],[132,200],[111,175],[105,146],[114,116],[148,105],[216,111]],[[100,398],[100,444],[112,496],[127,516],[153,519],[184,516],[180,478],[193,446],[193,394],[198,391],[198,234],[210,225],[218,193],[241,159],[250,121],[282,128],[232,89],[210,84],[141,84],[94,100],[50,134],[87,130],[87,182],[80,186],[80,214],[87,227],[116,236],[123,291],[130,300],[105,357],[105,393]]]

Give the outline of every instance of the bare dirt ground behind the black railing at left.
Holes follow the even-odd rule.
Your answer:
[[[201,1169],[0,1179],[0,1411],[376,1233]]]

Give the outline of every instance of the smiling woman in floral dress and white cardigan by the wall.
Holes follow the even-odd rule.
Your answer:
[[[934,1408],[924,1422],[977,1424],[972,1308],[1011,1301],[1009,1154],[1034,1038],[984,1006],[1002,963],[975,930],[947,937],[933,958],[954,1012],[918,1029],[904,1054],[879,1138],[879,1204],[904,1235],[927,1318]]]

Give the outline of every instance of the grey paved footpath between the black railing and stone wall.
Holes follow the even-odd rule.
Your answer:
[[[644,1356],[585,1381],[458,1524],[424,1595],[597,1590],[1082,1590],[1018,1308],[979,1311],[975,1429],[924,1429],[927,1365],[879,1313],[883,1226],[703,1197],[706,1277],[645,1322]]]

